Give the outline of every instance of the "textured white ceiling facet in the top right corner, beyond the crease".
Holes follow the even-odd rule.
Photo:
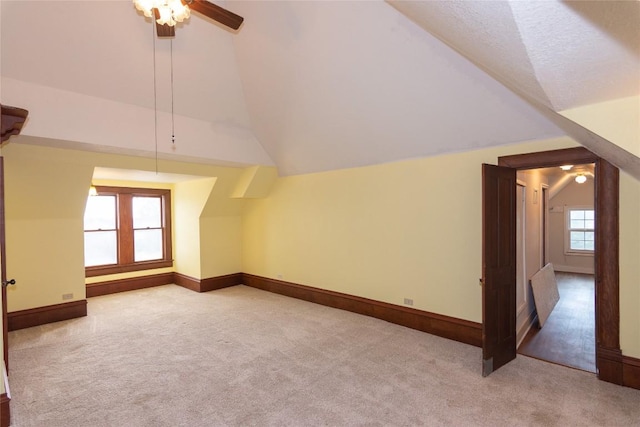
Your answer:
[[[511,2],[556,111],[640,94],[640,2]]]

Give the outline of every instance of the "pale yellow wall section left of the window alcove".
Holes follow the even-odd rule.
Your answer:
[[[93,167],[9,143],[5,159],[9,312],[85,298],[83,214]]]

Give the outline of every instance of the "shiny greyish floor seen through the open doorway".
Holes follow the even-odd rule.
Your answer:
[[[556,273],[560,300],[544,327],[534,325],[518,353],[596,372],[594,276]]]

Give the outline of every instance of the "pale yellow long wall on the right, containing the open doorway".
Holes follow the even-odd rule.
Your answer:
[[[280,178],[268,198],[247,201],[243,271],[398,305],[411,298],[417,309],[481,322],[481,163],[572,145],[560,139]],[[639,188],[625,177],[621,193],[621,339],[635,357]]]

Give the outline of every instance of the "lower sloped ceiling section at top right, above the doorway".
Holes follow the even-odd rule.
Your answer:
[[[640,105],[615,143],[562,110],[635,97],[640,103],[640,2],[388,0],[594,153],[640,179]],[[632,151],[622,147],[633,146]]]

